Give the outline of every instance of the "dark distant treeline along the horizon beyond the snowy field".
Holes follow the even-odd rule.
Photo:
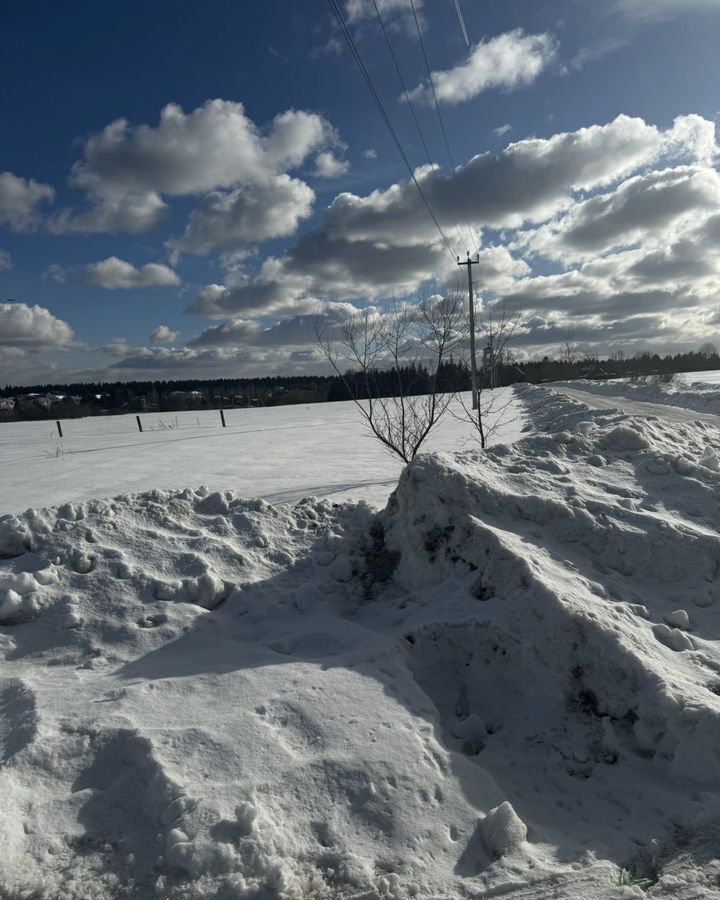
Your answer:
[[[533,362],[514,362],[505,354],[496,365],[495,383],[539,384],[577,378],[627,378],[701,372],[720,369],[720,357],[711,345],[701,351],[659,356],[641,353],[633,357],[615,354],[608,359],[580,357],[568,352],[564,359],[545,356]],[[481,373],[487,387],[489,373]],[[470,372],[464,362],[450,358],[438,372],[440,391],[470,388]],[[268,378],[215,378],[212,380],[127,381],[78,384],[7,385],[0,390],[0,421],[61,419],[128,412],[169,412],[232,407],[279,406],[322,403],[357,397],[424,394],[432,390],[432,378],[422,366],[407,366],[372,373],[361,378],[348,372],[338,376],[278,375]]]

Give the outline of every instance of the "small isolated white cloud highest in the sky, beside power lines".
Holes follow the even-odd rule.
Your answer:
[[[476,44],[467,58],[452,69],[433,72],[438,102],[463,103],[493,88],[515,90],[532,84],[557,55],[550,34],[525,34],[521,28]],[[432,102],[430,86],[420,84],[412,100]],[[402,99],[402,98],[401,98]]]

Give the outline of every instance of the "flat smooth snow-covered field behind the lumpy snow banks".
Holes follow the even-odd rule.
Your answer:
[[[494,392],[497,439],[522,425],[512,389]],[[507,401],[506,401],[507,398]],[[462,413],[459,405],[454,407]],[[28,507],[112,497],[152,488],[207,485],[243,497],[292,503],[307,496],[365,499],[384,506],[402,471],[369,438],[352,402],[225,412],[217,410],[0,424],[0,514]],[[448,415],[429,449],[460,449],[473,439]]]

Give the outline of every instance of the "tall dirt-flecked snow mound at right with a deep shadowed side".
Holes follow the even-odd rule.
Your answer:
[[[430,620],[410,667],[528,846],[585,848],[632,881],[654,840],[662,885],[720,822],[720,480],[702,464],[720,435],[523,394],[557,430],[418,459],[383,516],[396,584]],[[718,896],[701,881],[687,896]]]

